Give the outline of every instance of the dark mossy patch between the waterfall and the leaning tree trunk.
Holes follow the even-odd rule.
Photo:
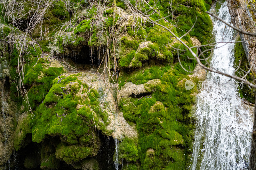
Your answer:
[[[241,41],[240,37],[237,39],[237,41]],[[245,55],[244,52],[244,48],[241,42],[239,43],[235,43],[235,60],[234,60],[234,68],[236,69],[239,66],[239,62],[241,60],[241,64],[240,64],[240,68],[244,71],[248,71],[249,63],[248,63],[248,59]],[[244,76],[244,72],[242,70],[237,70],[236,71],[236,75],[237,76]],[[251,76],[252,72],[250,71],[250,73],[246,76],[246,79],[250,82],[252,82],[252,76]],[[238,92],[240,94],[241,98],[245,98],[248,101],[250,101],[251,103],[255,103],[255,98],[254,98],[254,90],[249,88],[248,85],[241,85],[239,83],[239,87],[238,87]]]

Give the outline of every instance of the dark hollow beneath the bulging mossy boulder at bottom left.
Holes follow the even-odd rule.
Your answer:
[[[113,155],[115,154],[115,142],[113,137],[108,137],[103,135],[101,131],[97,131],[100,137],[100,150],[96,156],[93,158],[85,158],[84,160],[94,159],[99,165],[99,170],[115,170]],[[9,160],[10,169],[19,169],[19,170],[37,170],[37,169],[47,169],[48,164],[45,164],[49,161],[48,159],[52,155],[55,157],[56,147],[60,143],[59,136],[49,136],[46,135],[44,141],[41,143],[32,142],[32,135],[27,134],[26,139],[24,140],[23,147],[18,151],[13,151],[12,156]],[[48,158],[49,157],[49,158]],[[56,158],[55,158],[56,159]],[[73,164],[66,164],[65,161],[56,159],[56,167],[53,169],[74,169]],[[83,161],[83,160],[81,160]],[[81,162],[80,161],[80,162]],[[8,169],[9,162],[6,162],[6,167]],[[79,163],[79,162],[77,162]],[[76,164],[76,163],[75,163]],[[74,165],[75,165],[74,164]],[[119,165],[119,170],[121,170],[121,165]]]

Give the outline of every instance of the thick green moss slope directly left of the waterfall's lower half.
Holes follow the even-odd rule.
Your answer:
[[[133,72],[131,77],[124,76],[124,83],[143,84],[154,78],[159,78],[161,84],[154,87],[151,97],[130,98],[132,104],[123,100],[119,105],[124,118],[135,122],[139,132],[140,169],[186,169],[194,128],[194,120],[189,117],[194,102],[190,94],[197,90],[186,90],[185,82],[179,81],[188,77],[171,67],[155,66]],[[149,153],[150,148],[154,154]]]

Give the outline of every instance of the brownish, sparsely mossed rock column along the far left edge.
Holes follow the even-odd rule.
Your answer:
[[[0,24],[0,39],[4,25]],[[7,29],[8,27],[6,27]],[[16,103],[10,99],[10,53],[9,48],[0,42],[0,169],[10,158],[13,150],[13,130],[17,125],[19,112]]]

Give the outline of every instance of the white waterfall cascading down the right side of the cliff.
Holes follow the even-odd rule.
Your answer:
[[[226,4],[226,2],[225,2]],[[222,5],[219,17],[230,23],[228,7]],[[234,32],[214,20],[216,42],[232,41]],[[219,43],[214,49],[212,67],[234,74],[234,43]],[[191,170],[246,169],[251,148],[252,119],[241,106],[234,80],[208,73],[205,86],[198,94],[198,119],[193,146]]]

